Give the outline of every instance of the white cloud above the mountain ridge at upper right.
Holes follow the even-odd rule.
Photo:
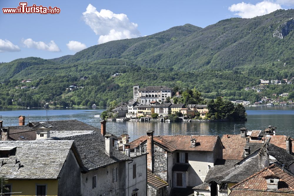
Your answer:
[[[238,3],[233,4],[229,7],[231,12],[237,12],[235,15],[241,16],[242,18],[253,18],[255,16],[262,16],[277,9],[282,9],[281,6],[277,3],[270,1],[262,1],[255,5],[250,3]]]

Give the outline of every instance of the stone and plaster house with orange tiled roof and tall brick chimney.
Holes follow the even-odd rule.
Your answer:
[[[218,136],[153,136],[152,130],[130,145],[147,146],[147,167],[169,184],[168,194],[176,187],[203,183],[206,170],[222,158],[223,149]]]

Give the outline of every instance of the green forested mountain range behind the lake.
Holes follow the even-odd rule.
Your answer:
[[[59,101],[106,106],[132,98],[132,86],[196,87],[206,98],[255,101],[262,95],[290,92],[292,85],[270,85],[257,94],[244,87],[259,79],[294,76],[294,10],[255,18],[230,18],[200,28],[176,26],[150,36],[116,40],[75,55],[44,60],[24,58],[0,64],[0,105]],[[1,61],[1,60],[0,60]],[[114,73],[122,73],[111,77]],[[86,76],[87,80],[80,80]],[[36,89],[15,89],[32,79]],[[66,90],[70,85],[83,87]]]

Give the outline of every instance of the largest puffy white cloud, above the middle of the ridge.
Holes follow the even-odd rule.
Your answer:
[[[99,44],[140,36],[137,29],[138,24],[131,22],[123,13],[116,14],[106,9],[101,9],[98,12],[96,7],[89,4],[86,11],[83,12],[83,19],[96,35],[99,35]]]

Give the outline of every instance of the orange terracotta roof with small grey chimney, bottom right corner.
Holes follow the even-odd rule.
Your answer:
[[[288,170],[284,168],[284,170],[277,164],[270,165],[267,168],[264,168],[263,170],[251,175],[247,179],[243,180],[242,182],[234,185],[231,187],[233,191],[235,189],[238,190],[255,190],[260,193],[256,193],[256,195],[264,195],[263,193],[269,192],[267,191],[267,182],[265,180],[265,176],[269,175],[275,175],[278,178],[280,178],[278,182],[278,190],[275,192],[283,192],[282,195],[284,195],[285,192],[292,192],[294,194],[294,175],[290,173]],[[232,191],[232,193],[233,193]],[[236,195],[234,193],[233,195]],[[272,192],[270,192],[272,193]],[[254,193],[255,194],[255,193]],[[265,195],[268,195],[267,193]]]

